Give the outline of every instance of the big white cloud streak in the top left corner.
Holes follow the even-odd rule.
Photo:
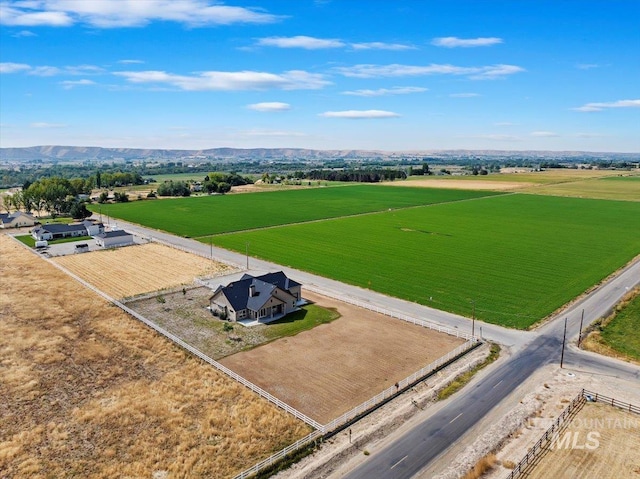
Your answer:
[[[273,23],[280,18],[258,9],[221,5],[211,0],[32,0],[0,5],[0,23],[10,26],[65,27],[84,23],[115,28],[171,21],[197,27]]]

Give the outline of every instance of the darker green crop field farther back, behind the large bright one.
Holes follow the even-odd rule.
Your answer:
[[[134,201],[91,205],[89,209],[94,213],[101,211],[103,215],[195,238],[495,194],[497,193],[355,185]]]

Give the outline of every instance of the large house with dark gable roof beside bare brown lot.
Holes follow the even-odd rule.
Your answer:
[[[211,312],[229,321],[269,322],[297,309],[302,285],[282,271],[251,276],[219,286],[209,299]]]

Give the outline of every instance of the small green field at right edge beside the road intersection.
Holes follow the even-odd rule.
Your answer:
[[[636,295],[603,329],[605,344],[640,361],[640,294]]]

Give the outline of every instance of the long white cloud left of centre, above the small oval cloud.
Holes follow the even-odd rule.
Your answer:
[[[175,75],[163,71],[115,72],[136,84],[164,84],[186,91],[232,91],[232,90],[317,90],[331,82],[323,75],[302,70],[291,70],[280,74],[239,71],[206,71],[197,75]]]

